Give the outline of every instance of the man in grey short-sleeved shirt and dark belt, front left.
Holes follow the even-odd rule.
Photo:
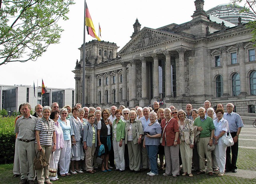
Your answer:
[[[33,159],[36,156],[35,139],[36,139],[36,121],[37,117],[30,114],[31,106],[29,103],[22,104],[21,111],[23,116],[16,121],[14,133],[17,135],[18,153],[20,158],[20,182],[19,184],[34,183],[35,170]],[[27,166],[28,163],[28,166]],[[28,172],[29,168],[29,172]],[[28,181],[27,181],[28,180]]]

